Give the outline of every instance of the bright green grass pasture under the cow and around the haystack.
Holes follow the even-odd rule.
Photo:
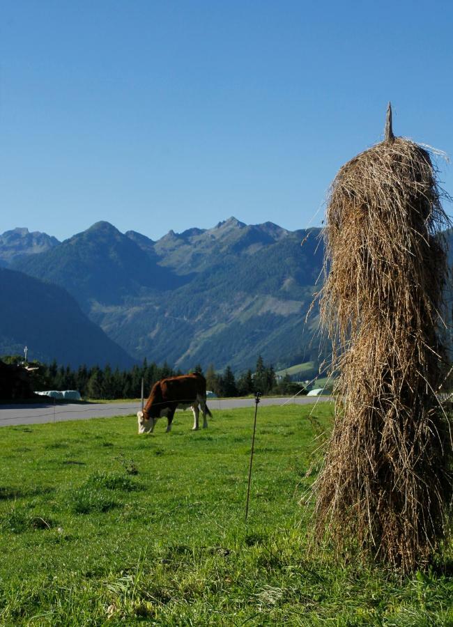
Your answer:
[[[207,431],[113,418],[0,430],[0,624],[447,626],[452,552],[400,581],[307,550],[300,506],[330,405],[259,406]],[[317,441],[319,442],[319,440]],[[307,522],[308,521],[308,522]]]

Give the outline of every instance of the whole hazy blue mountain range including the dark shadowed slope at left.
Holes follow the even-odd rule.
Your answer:
[[[445,234],[451,243],[453,232]],[[316,369],[328,353],[316,307],[306,319],[321,281],[320,235],[234,217],[157,241],[108,222],[63,242],[7,231],[0,354],[26,343],[31,355],[71,365],[128,367],[146,357],[182,371],[213,364],[240,372],[261,355],[276,369]]]

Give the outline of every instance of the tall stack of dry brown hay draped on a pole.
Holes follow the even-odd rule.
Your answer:
[[[337,554],[412,571],[445,536],[452,438],[436,398],[449,225],[429,153],[391,137],[339,170],[325,228],[321,320],[333,344],[335,426],[316,532]]]

